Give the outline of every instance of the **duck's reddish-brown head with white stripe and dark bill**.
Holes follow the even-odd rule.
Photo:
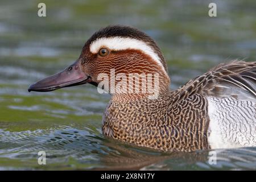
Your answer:
[[[32,84],[28,91],[48,92],[86,83],[97,86],[102,75],[110,78],[120,73],[127,78],[131,73],[158,73],[160,92],[170,85],[166,61],[150,36],[132,27],[109,26],[90,37],[75,63]]]

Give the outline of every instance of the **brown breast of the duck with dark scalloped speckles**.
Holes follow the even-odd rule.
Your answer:
[[[158,100],[109,102],[102,133],[107,137],[162,151],[209,148],[207,100],[194,94],[183,100],[175,92]]]

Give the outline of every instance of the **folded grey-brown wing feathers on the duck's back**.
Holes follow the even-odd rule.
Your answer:
[[[220,64],[189,81],[179,90],[212,97],[234,97],[256,102],[256,62],[232,61]]]

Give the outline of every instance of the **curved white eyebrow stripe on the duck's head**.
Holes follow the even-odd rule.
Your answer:
[[[110,38],[100,38],[94,40],[90,44],[90,52],[98,53],[99,49],[102,47],[109,48],[114,51],[121,51],[125,49],[136,49],[144,52],[146,55],[150,56],[155,62],[163,69],[164,73],[168,76],[163,64],[160,61],[160,57],[154,50],[141,40],[122,38],[120,36],[110,37]]]

